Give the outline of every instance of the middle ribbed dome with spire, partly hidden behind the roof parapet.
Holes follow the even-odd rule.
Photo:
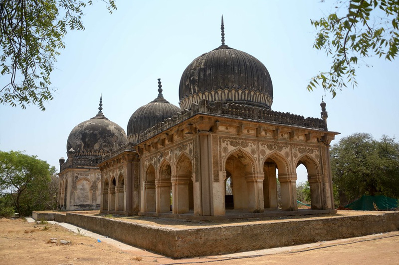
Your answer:
[[[139,107],[128,122],[128,136],[138,135],[167,118],[178,115],[181,109],[169,103],[162,95],[161,79],[158,79],[158,97],[150,103]]]

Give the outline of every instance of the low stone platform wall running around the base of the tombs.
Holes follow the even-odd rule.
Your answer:
[[[399,212],[248,220],[240,224],[199,224],[191,226],[193,228],[189,225],[176,228],[145,225],[78,213],[57,213],[55,221],[173,258],[253,251],[399,230]]]

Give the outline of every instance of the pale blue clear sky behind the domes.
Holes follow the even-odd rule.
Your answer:
[[[84,31],[69,31],[65,49],[52,72],[54,99],[46,110],[0,105],[0,150],[25,151],[59,170],[66,158],[71,130],[98,112],[126,131],[133,112],[158,95],[179,106],[179,83],[185,68],[220,43],[224,17],[225,44],[259,59],[273,82],[272,109],[320,117],[324,96],[328,129],[338,141],[356,132],[380,139],[399,134],[399,60],[371,58],[357,69],[357,88],[335,98],[310,79],[328,71],[331,58],[312,48],[317,19],[334,10],[335,1],[117,0],[109,14],[101,0],[84,9]],[[1,77],[3,79],[4,77]],[[298,181],[306,180],[303,169]]]

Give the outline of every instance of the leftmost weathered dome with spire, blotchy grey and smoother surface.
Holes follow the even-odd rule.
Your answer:
[[[76,152],[107,153],[110,148],[119,148],[126,144],[127,136],[121,126],[108,120],[102,110],[102,101],[97,115],[79,123],[72,129],[66,143],[66,150]]]

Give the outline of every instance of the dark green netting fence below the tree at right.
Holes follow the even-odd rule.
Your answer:
[[[345,208],[358,211],[393,210],[398,207],[398,199],[383,195],[363,195],[360,199],[345,206]]]

